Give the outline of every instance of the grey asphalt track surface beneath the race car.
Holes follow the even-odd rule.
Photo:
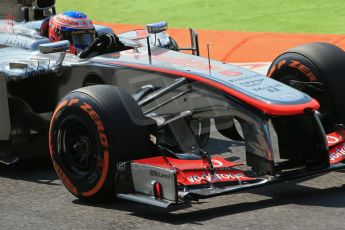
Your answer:
[[[275,140],[274,140],[275,141]],[[236,160],[243,146],[213,132],[210,152]],[[117,200],[81,202],[49,158],[0,166],[0,229],[345,229],[345,173],[291,181],[164,210]]]

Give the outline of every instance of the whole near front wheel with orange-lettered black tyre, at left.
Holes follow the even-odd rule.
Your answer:
[[[73,195],[102,201],[115,197],[117,166],[150,156],[149,135],[147,120],[128,93],[109,85],[89,86],[69,93],[57,106],[50,154]]]

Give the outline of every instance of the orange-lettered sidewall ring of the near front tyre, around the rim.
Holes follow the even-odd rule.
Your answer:
[[[116,166],[109,165],[109,162],[117,162],[117,159],[113,159],[116,158],[116,154],[109,154],[115,146],[109,145],[109,134],[106,130],[109,124],[102,114],[100,106],[92,98],[71,93],[60,103],[53,116],[50,128],[50,152],[53,165],[63,184],[77,197],[102,193],[102,190],[106,189],[107,180],[115,176]],[[82,121],[94,140],[95,162],[84,176],[75,175],[57,149],[61,128],[71,119]]]

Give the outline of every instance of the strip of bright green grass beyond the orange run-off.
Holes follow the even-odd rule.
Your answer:
[[[57,0],[57,11],[93,20],[138,24],[167,20],[172,28],[345,33],[344,0]]]

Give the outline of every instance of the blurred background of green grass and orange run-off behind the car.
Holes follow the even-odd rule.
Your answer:
[[[345,48],[344,0],[69,0],[57,12],[80,10],[116,33],[166,20],[168,33],[189,46],[187,28],[200,34],[201,55],[223,62],[271,62],[285,50],[309,42]]]

